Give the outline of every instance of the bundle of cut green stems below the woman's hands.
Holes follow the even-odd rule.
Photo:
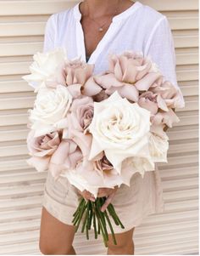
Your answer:
[[[89,230],[93,225],[94,228],[94,236],[97,239],[97,236],[102,234],[103,242],[105,247],[108,247],[108,230],[107,225],[111,231],[111,235],[114,241],[114,244],[117,244],[116,238],[114,236],[114,229],[111,225],[109,216],[114,219],[115,225],[120,225],[122,229],[124,229],[124,225],[121,223],[117,213],[114,210],[113,204],[109,204],[108,208],[102,212],[101,207],[105,202],[106,197],[97,197],[95,202],[90,200],[86,200],[85,198],[81,199],[81,202],[73,214],[74,219],[72,220],[73,225],[75,225],[75,232],[79,229],[81,224],[81,219],[83,219],[83,225],[81,232],[83,233],[86,230],[86,239],[89,239]]]

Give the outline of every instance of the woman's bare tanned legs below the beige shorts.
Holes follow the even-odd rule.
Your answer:
[[[67,214],[67,213],[66,213]],[[108,235],[108,255],[134,255],[134,243],[132,240],[134,228],[124,233],[115,234],[117,245],[112,242],[112,236]],[[75,236],[75,227],[66,225],[42,207],[42,219],[40,229],[39,248],[45,255],[75,255],[72,246]]]

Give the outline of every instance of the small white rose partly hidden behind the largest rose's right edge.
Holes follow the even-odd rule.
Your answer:
[[[167,162],[168,139],[166,134],[164,134],[164,138],[161,138],[158,134],[150,133],[149,151],[153,162]]]

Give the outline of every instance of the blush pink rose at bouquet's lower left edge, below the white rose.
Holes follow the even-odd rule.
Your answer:
[[[31,158],[27,163],[36,168],[37,171],[46,171],[51,156],[57,150],[60,144],[61,134],[53,132],[39,137],[34,137],[35,131],[31,130],[27,136],[27,148]]]

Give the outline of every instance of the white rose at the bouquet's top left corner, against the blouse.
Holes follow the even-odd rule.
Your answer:
[[[35,88],[35,93],[39,88],[46,87],[45,82],[65,84],[66,54],[62,48],[47,53],[37,53],[33,56],[33,60],[30,66],[31,74],[22,78]]]

